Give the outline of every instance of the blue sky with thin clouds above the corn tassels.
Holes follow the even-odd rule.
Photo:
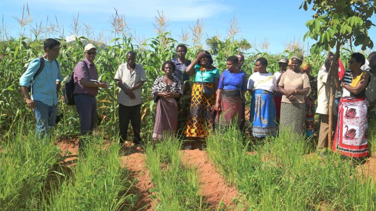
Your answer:
[[[166,30],[179,42],[182,31],[191,34],[191,28],[197,19],[204,23],[202,43],[216,34],[225,39],[228,36],[229,22],[235,17],[240,29],[235,38],[246,39],[254,46],[253,49],[256,47],[260,51],[280,53],[289,42],[298,41],[305,50],[314,43],[312,40],[303,42],[304,34],[308,31],[305,22],[312,19],[313,11],[299,9],[302,2],[303,0],[0,0],[0,32],[6,28],[10,36],[19,36],[21,27],[16,18],[21,18],[27,3],[31,26],[57,26],[58,23],[64,28],[65,38],[72,37],[73,17],[76,18],[77,14],[82,27],[90,25],[96,37],[102,32],[109,38],[112,29],[110,19],[115,15],[116,9],[119,15],[124,15],[129,31],[142,40],[156,36],[153,24],[156,23],[158,11],[163,11],[168,20]],[[376,17],[372,21],[376,23]],[[30,36],[30,26],[25,29],[26,36]],[[376,27],[369,31],[369,35],[376,45]],[[190,40],[187,44],[190,44]],[[264,41],[269,43],[267,49],[260,47],[260,43]]]

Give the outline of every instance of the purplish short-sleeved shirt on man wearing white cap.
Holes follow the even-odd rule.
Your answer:
[[[89,94],[93,96],[98,94],[98,87],[85,87],[81,84],[81,79],[83,78],[98,80],[98,70],[94,63],[91,63],[88,59],[85,58],[84,61],[77,63],[74,68],[73,78],[76,83],[73,94]]]

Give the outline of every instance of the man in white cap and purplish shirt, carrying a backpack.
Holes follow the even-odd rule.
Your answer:
[[[107,88],[106,82],[98,82],[98,71],[94,64],[96,47],[93,44],[85,46],[85,59],[74,68],[74,102],[80,116],[81,135],[93,132],[96,118],[96,98],[98,87]],[[83,149],[84,143],[79,141],[78,147]]]

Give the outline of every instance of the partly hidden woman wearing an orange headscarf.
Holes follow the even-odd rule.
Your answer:
[[[302,72],[307,74],[311,93],[305,97],[305,137],[312,137],[315,133],[315,101],[317,99],[317,79],[311,76],[311,65],[309,63],[302,64]]]

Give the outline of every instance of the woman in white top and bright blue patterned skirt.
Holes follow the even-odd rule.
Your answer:
[[[277,91],[276,77],[266,71],[268,61],[261,57],[256,60],[255,73],[249,77],[248,90],[253,94],[250,122],[255,137],[274,136],[277,133],[274,92]]]

